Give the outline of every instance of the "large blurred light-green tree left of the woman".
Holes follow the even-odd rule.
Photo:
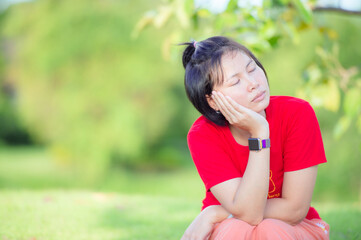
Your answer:
[[[180,67],[158,57],[162,34],[130,37],[139,5],[149,4],[38,0],[6,13],[3,34],[14,51],[5,75],[20,116],[60,165],[87,178],[182,162],[186,143],[175,136],[185,137],[190,114]]]

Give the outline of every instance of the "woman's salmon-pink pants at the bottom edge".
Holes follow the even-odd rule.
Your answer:
[[[242,220],[228,218],[215,227],[210,240],[327,240],[329,229],[329,225],[321,219],[304,219],[295,226],[277,219],[264,219],[257,226],[252,226]]]

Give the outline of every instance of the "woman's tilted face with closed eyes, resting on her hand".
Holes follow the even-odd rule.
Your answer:
[[[264,115],[270,91],[267,78],[256,62],[243,52],[229,52],[222,57],[222,68],[224,81],[213,90]]]

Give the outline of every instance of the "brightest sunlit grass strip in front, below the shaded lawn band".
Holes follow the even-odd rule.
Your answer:
[[[199,201],[81,190],[3,190],[0,239],[180,239]],[[360,206],[316,204],[331,239],[360,239]]]

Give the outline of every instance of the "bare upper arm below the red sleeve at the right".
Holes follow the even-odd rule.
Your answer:
[[[287,199],[292,208],[304,215],[303,217],[311,204],[316,177],[317,165],[284,173],[282,198]]]

